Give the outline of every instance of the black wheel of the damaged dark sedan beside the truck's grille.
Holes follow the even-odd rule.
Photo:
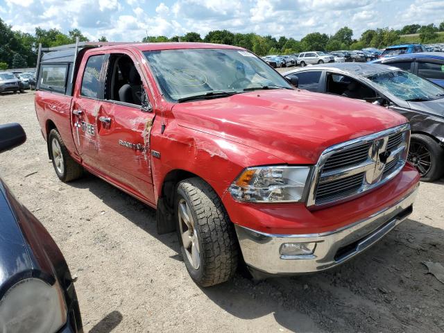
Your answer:
[[[416,167],[423,182],[433,182],[443,176],[444,149],[432,137],[412,134],[407,159]]]

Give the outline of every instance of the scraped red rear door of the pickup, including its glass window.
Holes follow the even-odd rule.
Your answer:
[[[105,63],[108,55],[87,53],[78,71],[74,100],[71,105],[71,126],[77,151],[83,162],[93,169],[99,161],[97,114],[103,98]]]

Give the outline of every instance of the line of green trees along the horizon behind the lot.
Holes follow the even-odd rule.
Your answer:
[[[421,26],[410,24],[400,30],[390,28],[369,29],[362,33],[359,39],[353,38],[352,29],[344,26],[334,35],[325,33],[309,33],[301,40],[293,37],[272,37],[271,35],[257,35],[256,33],[232,33],[228,30],[210,31],[202,37],[199,33],[186,33],[185,35],[146,36],[142,42],[209,42],[215,44],[228,44],[241,46],[253,51],[258,56],[267,54],[289,54],[302,51],[336,51],[355,50],[366,47],[383,49],[386,46],[402,42],[402,35],[419,34],[421,43],[444,42],[444,22],[439,26],[429,24]],[[35,33],[13,31],[12,27],[0,18],[0,69],[35,67],[37,61],[38,45],[43,47],[72,44],[79,37],[80,42],[89,42],[80,30],[73,29],[67,34],[56,28],[35,28]],[[107,42],[105,36],[99,42]]]

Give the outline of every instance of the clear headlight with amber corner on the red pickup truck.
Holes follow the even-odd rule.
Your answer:
[[[245,169],[228,188],[233,198],[255,203],[298,202],[309,167],[253,167]]]

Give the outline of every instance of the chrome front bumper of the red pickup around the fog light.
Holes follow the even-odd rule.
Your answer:
[[[266,234],[235,225],[248,266],[269,274],[296,274],[332,268],[382,239],[412,212],[418,187],[395,205],[338,230],[320,234]],[[281,255],[285,243],[316,243],[309,255]]]

